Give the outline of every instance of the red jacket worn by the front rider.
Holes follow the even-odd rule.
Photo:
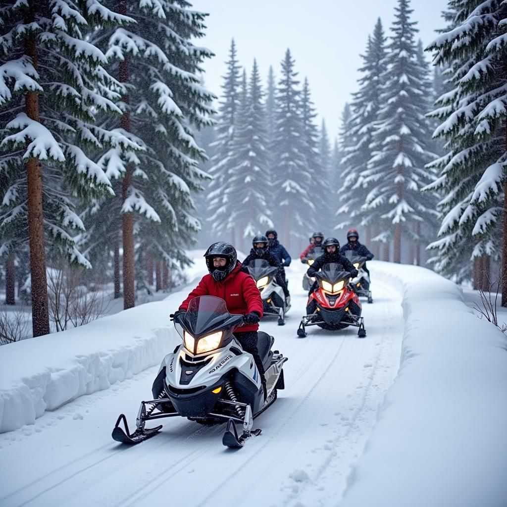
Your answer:
[[[263,303],[261,293],[253,278],[240,271],[241,263],[221,282],[216,281],[210,274],[204,275],[199,285],[188,295],[187,299],[179,305],[182,310],[188,310],[190,301],[198,296],[216,296],[225,300],[229,313],[242,313],[246,315],[256,312],[262,317]],[[244,324],[237,328],[238,333],[257,331],[259,324]]]

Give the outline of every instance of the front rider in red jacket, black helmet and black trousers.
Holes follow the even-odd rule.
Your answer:
[[[230,313],[243,314],[244,324],[234,332],[235,338],[250,353],[261,374],[266,397],[264,366],[257,348],[257,330],[263,314],[263,303],[259,289],[252,277],[241,271],[234,246],[224,241],[213,243],[204,254],[209,274],[204,275],[197,287],[179,305],[177,312],[186,312],[190,301],[198,296],[215,296],[225,300]]]

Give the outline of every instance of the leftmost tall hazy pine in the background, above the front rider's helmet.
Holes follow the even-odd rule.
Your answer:
[[[225,194],[229,183],[231,147],[234,140],[240,87],[241,67],[236,59],[236,44],[234,43],[234,39],[231,42],[229,60],[226,62],[226,65],[227,73],[224,76],[219,115],[216,118],[216,141],[213,144],[215,155],[211,159],[213,166],[209,169],[209,173],[214,179],[208,186],[208,221],[211,225],[211,231],[217,235],[217,239],[225,240],[226,232],[228,232],[231,242],[235,244],[236,229],[233,228],[229,231],[226,229],[227,218],[231,210]]]

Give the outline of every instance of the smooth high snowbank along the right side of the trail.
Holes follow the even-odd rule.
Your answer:
[[[404,296],[401,365],[340,507],[505,507],[507,337],[432,271],[372,268]]]

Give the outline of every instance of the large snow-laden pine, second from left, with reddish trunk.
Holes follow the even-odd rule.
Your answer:
[[[145,148],[139,155],[110,150],[100,157],[106,173],[122,184],[118,212],[111,216],[121,214],[123,222],[126,308],[135,302],[134,238],[139,256],[153,258],[162,271],[164,265],[179,269],[189,263],[185,249],[200,229],[192,195],[208,176],[198,167],[206,157],[194,129],[212,123],[214,96],[199,76],[212,53],[193,43],[204,35],[206,15],[189,7],[184,0],[129,3],[126,13],[136,24],[97,38],[119,60],[111,72],[128,88],[119,103],[121,122],[105,122]]]

